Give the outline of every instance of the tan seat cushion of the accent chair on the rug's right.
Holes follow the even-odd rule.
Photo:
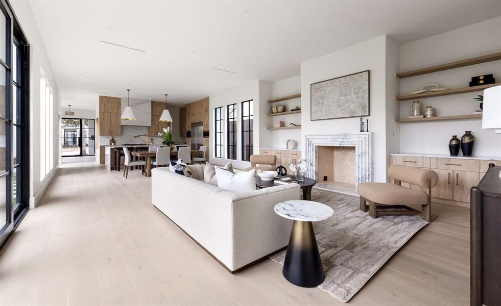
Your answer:
[[[356,185],[356,192],[370,201],[385,205],[425,205],[428,203],[426,193],[392,183],[360,183]]]

